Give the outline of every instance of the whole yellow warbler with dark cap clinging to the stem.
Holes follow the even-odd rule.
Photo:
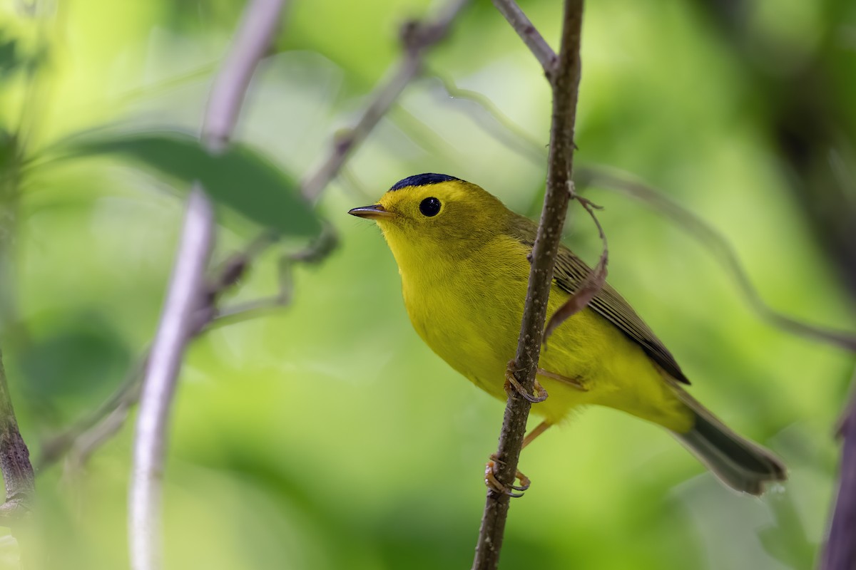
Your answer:
[[[537,226],[477,185],[417,174],[377,204],[349,214],[375,220],[401,273],[407,313],[443,360],[494,397],[506,398]],[[568,300],[589,272],[562,246],[547,311]],[[538,362],[549,397],[533,435],[587,404],[617,408],[672,432],[726,484],[759,495],[786,470],[769,451],[740,438],[681,387],[688,384],[663,343],[612,287],[556,329]]]

